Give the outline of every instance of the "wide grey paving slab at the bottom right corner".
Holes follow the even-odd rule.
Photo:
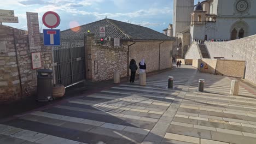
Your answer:
[[[255,143],[256,139],[248,136],[233,135],[226,133],[219,133],[218,131],[211,131],[212,140],[223,141],[237,144],[252,144]]]

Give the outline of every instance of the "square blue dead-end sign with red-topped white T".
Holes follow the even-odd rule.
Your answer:
[[[43,29],[44,46],[60,45],[60,29]]]

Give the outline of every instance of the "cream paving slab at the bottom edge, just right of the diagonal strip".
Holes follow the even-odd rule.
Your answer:
[[[191,142],[191,143],[200,143],[200,139],[197,137],[185,136],[185,135],[178,135],[172,133],[166,133],[165,139],[177,140],[177,141],[184,141],[184,142]]]

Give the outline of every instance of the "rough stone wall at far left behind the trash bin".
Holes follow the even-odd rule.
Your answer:
[[[32,70],[26,31],[0,26],[0,100],[20,99],[36,92],[36,70]],[[18,56],[16,56],[15,49]],[[43,68],[51,68],[51,49],[40,51]],[[18,61],[17,61],[18,60]],[[22,93],[21,93],[22,92]]]

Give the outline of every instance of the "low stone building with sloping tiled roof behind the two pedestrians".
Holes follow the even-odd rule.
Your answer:
[[[100,27],[106,27],[106,37],[100,37]],[[121,77],[128,76],[131,59],[137,64],[145,59],[147,72],[172,67],[174,38],[150,28],[103,19],[67,29],[61,35],[62,38],[85,39],[86,79],[113,79],[114,71],[119,71]],[[114,46],[114,38],[120,39],[119,46]]]

